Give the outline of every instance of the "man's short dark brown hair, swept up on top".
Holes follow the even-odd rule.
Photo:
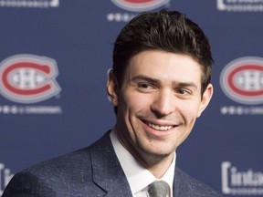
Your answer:
[[[211,81],[213,58],[203,30],[177,11],[142,13],[124,26],[114,43],[113,72],[121,85],[130,59],[145,50],[163,50],[193,57],[203,72],[202,89]]]

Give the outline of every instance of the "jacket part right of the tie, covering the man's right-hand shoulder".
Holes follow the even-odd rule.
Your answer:
[[[222,197],[221,194],[213,190],[210,186],[202,181],[198,181],[191,177],[179,168],[175,169],[175,181],[174,187],[175,191],[177,188],[178,192],[188,193],[188,196],[207,196],[207,197]],[[180,196],[178,194],[178,196]]]

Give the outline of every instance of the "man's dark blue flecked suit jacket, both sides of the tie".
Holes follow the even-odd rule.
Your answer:
[[[2,197],[132,197],[109,133],[87,148],[18,172]],[[220,195],[176,167],[174,196]]]

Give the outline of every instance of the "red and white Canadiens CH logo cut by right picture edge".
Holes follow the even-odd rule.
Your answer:
[[[223,69],[220,85],[229,99],[242,104],[263,103],[263,58],[238,58]]]

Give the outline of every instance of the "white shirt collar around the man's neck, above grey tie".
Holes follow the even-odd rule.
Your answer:
[[[121,168],[130,184],[132,194],[141,191],[153,181],[157,180],[150,171],[145,169],[140,162],[136,161],[132,154],[121,145],[121,142],[117,138],[115,129],[110,132],[110,140],[121,163]],[[175,160],[176,153],[174,151],[174,160],[169,169],[163,175],[162,179],[160,179],[169,184],[171,196],[173,196]]]

